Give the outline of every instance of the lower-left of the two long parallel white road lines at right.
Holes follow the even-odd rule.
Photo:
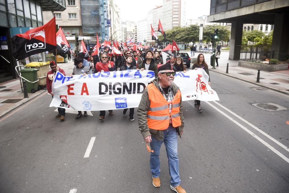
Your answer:
[[[239,127],[241,127],[242,129],[244,129],[247,133],[249,133],[251,136],[253,136],[254,138],[256,138],[258,141],[260,141],[262,144],[264,144],[266,147],[268,147],[269,149],[271,149],[274,153],[276,153],[277,155],[279,155],[282,159],[284,159],[286,162],[289,163],[289,159],[283,155],[282,153],[280,153],[278,150],[276,150],[274,147],[272,147],[271,145],[269,145],[267,142],[265,142],[264,140],[262,140],[260,137],[258,137],[257,135],[255,135],[252,131],[250,131],[249,129],[247,129],[246,127],[244,127],[242,124],[240,124],[239,122],[237,122],[236,120],[234,120],[233,118],[231,118],[229,115],[225,114],[223,111],[221,111],[220,109],[218,109],[217,107],[215,107],[214,105],[212,105],[211,103],[204,101],[205,103],[207,103],[208,105],[210,105],[211,107],[213,107],[215,110],[217,110],[219,113],[221,113],[222,115],[224,115],[225,117],[227,117],[229,120],[231,120],[233,123],[235,123],[236,125],[238,125]]]

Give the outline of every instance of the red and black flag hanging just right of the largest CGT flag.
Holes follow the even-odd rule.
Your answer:
[[[70,52],[70,45],[68,44],[61,27],[59,27],[56,33],[56,49],[57,52],[55,51],[55,49],[53,49],[51,50],[51,53],[53,53],[54,55],[61,55],[64,58],[66,58],[66,54]]]

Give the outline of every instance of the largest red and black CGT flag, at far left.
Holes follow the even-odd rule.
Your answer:
[[[12,42],[14,44],[12,55],[17,60],[56,49],[55,17],[45,25],[30,29],[24,34],[16,34],[12,37]]]

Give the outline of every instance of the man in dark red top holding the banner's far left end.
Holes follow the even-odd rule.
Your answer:
[[[54,61],[50,61],[49,65],[50,65],[51,70],[46,75],[46,88],[47,88],[47,92],[51,94],[53,98],[54,94],[52,93],[51,87],[52,87],[52,82],[56,74],[56,71],[59,70],[59,72],[61,72],[64,76],[65,76],[65,72],[63,69],[59,68]],[[55,118],[60,117],[60,120],[64,120],[64,116],[65,116],[65,109],[58,107],[58,115],[56,115]]]

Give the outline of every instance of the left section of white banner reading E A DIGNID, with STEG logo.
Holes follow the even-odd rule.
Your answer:
[[[64,76],[57,71],[50,107],[76,111],[138,107],[144,88],[155,79],[153,71],[124,70],[86,76]]]

